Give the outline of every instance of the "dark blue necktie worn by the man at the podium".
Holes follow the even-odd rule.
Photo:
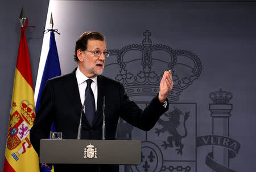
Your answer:
[[[93,119],[95,116],[95,100],[92,92],[92,88],[90,88],[90,84],[92,84],[91,79],[86,80],[87,87],[85,89],[85,116],[87,121],[89,122],[90,126],[92,127]]]

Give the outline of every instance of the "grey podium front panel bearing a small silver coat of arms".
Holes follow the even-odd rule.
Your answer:
[[[141,164],[138,140],[40,140],[39,162],[44,164]]]

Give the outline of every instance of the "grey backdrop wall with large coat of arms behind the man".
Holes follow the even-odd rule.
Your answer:
[[[26,31],[35,85],[48,4],[26,2],[26,15],[30,24],[36,25]],[[144,156],[140,166],[122,166],[121,171],[213,171],[214,167],[256,171],[255,2],[53,4],[54,28],[61,33],[55,37],[62,74],[77,66],[73,61],[75,41],[90,30],[104,33],[112,53],[104,74],[121,81],[142,108],[158,92],[163,71],[171,68],[173,72],[170,110],[151,131],[120,121],[118,139],[142,140]],[[1,28],[1,55],[8,57],[1,63],[1,79],[5,81],[1,89],[1,168],[19,41],[17,18],[22,6],[13,5],[6,1],[5,7],[1,6],[12,10],[4,12],[8,20]],[[35,13],[35,6],[42,12]],[[171,128],[172,124],[177,129]]]

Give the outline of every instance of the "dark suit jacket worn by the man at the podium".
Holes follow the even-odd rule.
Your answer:
[[[30,131],[31,143],[38,154],[39,141],[48,138],[52,122],[55,124],[56,131],[63,133],[63,139],[77,139],[82,104],[75,71],[47,81],[42,94],[40,109]],[[168,105],[167,108],[164,108],[158,100],[158,96],[156,96],[150,105],[142,111],[133,101],[129,100],[123,85],[118,81],[99,75],[97,83],[96,116],[93,126],[90,127],[85,115],[82,115],[81,139],[101,139],[104,96],[106,97],[105,124],[107,140],[115,139],[119,117],[141,130],[148,131],[154,127],[160,115],[168,110]],[[57,170],[57,167],[60,166],[55,165],[55,170]],[[65,169],[67,170],[68,167],[71,167],[71,165],[65,166]],[[80,167],[97,171],[93,170],[97,168],[95,165],[82,165]],[[74,171],[73,167],[72,171]],[[118,171],[118,166],[101,166],[101,171]]]

